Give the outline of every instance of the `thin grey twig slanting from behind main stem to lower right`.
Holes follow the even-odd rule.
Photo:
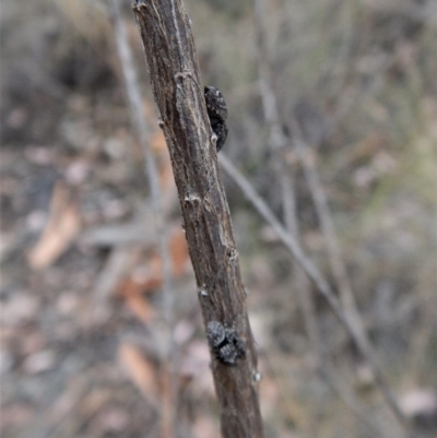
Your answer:
[[[220,163],[226,174],[237,184],[241,189],[246,198],[251,202],[255,209],[261,214],[261,216],[272,226],[277,237],[282,240],[285,247],[292,252],[300,267],[305,270],[308,277],[315,283],[317,291],[326,298],[327,303],[340,320],[351,339],[354,341],[361,354],[369,363],[376,384],[381,391],[387,404],[391,411],[395,414],[395,417],[400,421],[402,429],[406,428],[406,419],[403,413],[400,411],[398,403],[391,392],[391,389],[386,383],[385,378],[381,376],[379,367],[374,362],[373,354],[368,351],[367,344],[363,343],[361,333],[356,332],[356,328],[350,323],[350,317],[345,315],[345,310],[342,308],[340,300],[331,289],[330,285],[316,268],[312,261],[305,254],[298,241],[295,237],[288,233],[284,226],[279,222],[273,212],[270,210],[265,201],[255,191],[250,182],[237,170],[237,168],[224,156],[220,156]]]

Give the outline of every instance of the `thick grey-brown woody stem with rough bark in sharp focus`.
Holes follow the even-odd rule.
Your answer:
[[[221,344],[211,345],[209,336],[222,435],[262,438],[257,354],[190,21],[181,0],[139,0],[133,12],[172,158],[204,327],[217,321],[225,328]],[[238,354],[232,355],[233,348]]]

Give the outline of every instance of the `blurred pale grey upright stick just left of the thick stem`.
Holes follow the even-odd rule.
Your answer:
[[[125,78],[125,86],[128,95],[128,102],[131,110],[133,126],[139,137],[144,161],[145,175],[151,190],[152,210],[154,213],[153,225],[158,239],[158,249],[163,261],[163,309],[166,325],[166,364],[163,372],[163,380],[166,383],[163,391],[163,413],[162,427],[163,437],[175,436],[176,430],[176,394],[177,379],[175,376],[175,342],[173,339],[174,328],[174,296],[172,285],[172,262],[166,237],[166,221],[162,208],[162,191],[160,187],[158,169],[150,147],[150,127],[146,125],[143,113],[142,97],[138,82],[137,70],[132,59],[132,52],[129,46],[125,24],[122,22],[119,0],[110,0],[110,12],[114,22],[115,36],[117,42],[118,56]]]

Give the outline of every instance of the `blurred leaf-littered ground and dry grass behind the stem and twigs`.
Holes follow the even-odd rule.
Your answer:
[[[172,167],[130,1],[120,3],[146,144],[130,117],[113,2],[2,2],[4,438],[220,437]],[[290,224],[345,306],[352,292],[403,415],[417,436],[435,437],[436,2],[185,3],[202,81],[228,106],[221,154]],[[144,147],[158,169],[169,300]],[[222,175],[265,437],[402,436],[366,359]]]

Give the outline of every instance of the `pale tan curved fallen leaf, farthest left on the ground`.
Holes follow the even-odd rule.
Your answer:
[[[32,269],[54,263],[71,245],[81,228],[81,217],[72,189],[62,181],[55,186],[47,225],[35,247],[28,252]]]

